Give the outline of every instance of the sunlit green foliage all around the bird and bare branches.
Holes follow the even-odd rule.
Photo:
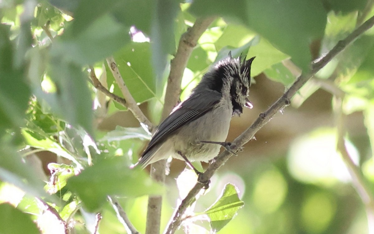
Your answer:
[[[129,169],[150,134],[134,127],[130,118],[123,127],[100,127],[126,108],[93,88],[89,66],[103,86],[121,96],[105,61],[113,55],[135,101],[157,116],[170,60],[197,17],[218,16],[188,60],[181,99],[229,51],[256,56],[252,76],[289,87],[313,59],[373,14],[367,0],[0,1],[0,233],[65,233],[65,227],[93,233],[97,212],[104,217],[101,233],[126,233],[107,195],[119,197],[144,233],[146,195],[165,197],[163,228],[176,200],[195,184],[190,170],[162,186],[144,170]],[[373,30],[332,59],[292,99],[297,108],[325,89],[343,99],[348,118],[362,116],[355,126],[364,132],[347,131],[344,138],[371,190]],[[335,105],[331,99],[325,102]],[[295,135],[287,150],[242,162],[244,169],[219,172],[188,208],[178,232],[373,232],[337,153],[336,125],[315,126]]]

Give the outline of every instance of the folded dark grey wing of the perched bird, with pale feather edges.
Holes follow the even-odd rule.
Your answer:
[[[180,127],[196,120],[212,110],[214,105],[217,104],[220,99],[221,94],[213,90],[190,96],[190,98],[184,101],[177,110],[171,113],[160,124],[151,141],[148,143],[147,148],[142,153],[139,163],[144,164],[148,161],[149,157],[152,155],[148,153],[152,151],[153,147],[158,143],[163,142],[169,135],[180,129]]]

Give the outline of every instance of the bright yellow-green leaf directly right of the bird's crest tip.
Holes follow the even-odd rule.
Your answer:
[[[256,56],[256,59],[251,66],[251,76],[257,76],[274,64],[289,58],[288,55],[276,49],[264,38],[261,38],[257,44],[249,48],[247,58],[252,58],[253,56]]]

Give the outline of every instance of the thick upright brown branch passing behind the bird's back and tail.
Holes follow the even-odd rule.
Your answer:
[[[181,92],[181,82],[184,69],[187,66],[188,59],[192,50],[197,44],[197,40],[205,32],[208,26],[213,22],[214,18],[198,18],[193,27],[189,28],[186,33],[181,36],[177,53],[171,61],[168,83],[166,86],[164,108],[162,111],[162,120],[164,120],[175,104],[179,100]],[[166,160],[158,161],[151,164],[151,178],[161,183],[165,182]],[[148,198],[147,209],[147,225],[145,234],[160,233],[162,196],[150,196]]]

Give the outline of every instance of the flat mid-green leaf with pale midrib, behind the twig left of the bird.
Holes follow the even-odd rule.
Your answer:
[[[129,43],[114,54],[114,59],[116,60],[119,72],[126,86],[136,102],[142,103],[156,96],[156,88],[153,81],[154,74],[151,65],[150,44],[148,42]],[[111,84],[113,84],[113,93],[122,96],[107,63],[105,63],[105,67],[107,68],[108,86],[110,87]],[[115,105],[120,110],[124,109],[121,105]]]

